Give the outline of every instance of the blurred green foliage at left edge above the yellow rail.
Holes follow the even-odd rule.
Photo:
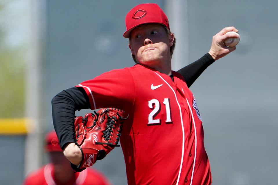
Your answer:
[[[25,116],[24,49],[0,51],[0,118]]]

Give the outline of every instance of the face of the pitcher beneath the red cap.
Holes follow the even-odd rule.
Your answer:
[[[129,48],[140,64],[155,67],[171,64],[170,47],[174,36],[160,24],[144,24],[130,34]]]

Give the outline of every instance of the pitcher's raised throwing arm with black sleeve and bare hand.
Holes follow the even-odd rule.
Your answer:
[[[236,47],[226,47],[223,43],[224,40],[233,36],[228,36],[226,34],[227,32],[231,31],[238,32],[238,30],[233,26],[223,28],[219,33],[213,36],[211,49],[208,53],[206,53],[199,60],[196,60],[195,62],[177,71],[184,77],[188,87],[190,87],[195,82],[195,80],[204,72],[204,70],[213,62],[226,56],[232,51],[235,51]]]

